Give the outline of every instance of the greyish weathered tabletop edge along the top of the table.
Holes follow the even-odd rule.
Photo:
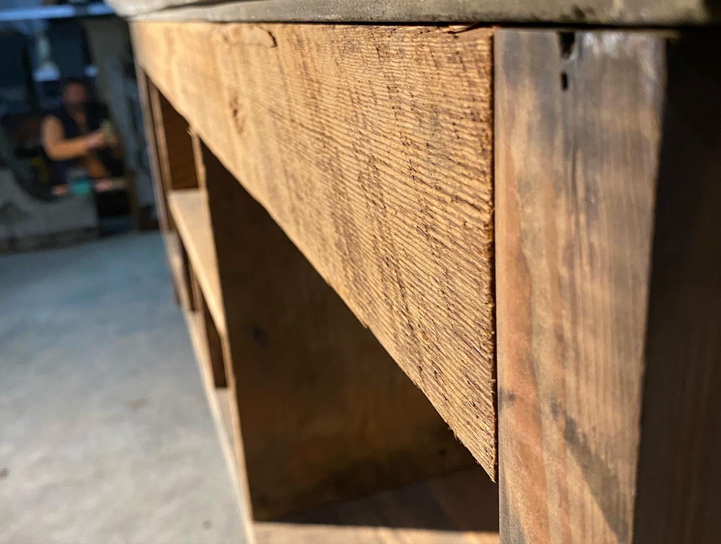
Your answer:
[[[715,5],[703,0],[108,0],[108,3],[122,17],[144,15],[149,19],[187,21],[687,25],[720,20]]]

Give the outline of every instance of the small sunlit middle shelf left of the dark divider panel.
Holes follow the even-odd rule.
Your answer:
[[[207,197],[200,189],[172,190],[167,194],[167,201],[185,250],[193,263],[193,271],[211,311],[213,323],[218,333],[224,334],[225,315]]]

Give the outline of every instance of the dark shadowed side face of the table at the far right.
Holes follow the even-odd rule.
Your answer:
[[[634,540],[721,542],[721,51],[666,44]]]

